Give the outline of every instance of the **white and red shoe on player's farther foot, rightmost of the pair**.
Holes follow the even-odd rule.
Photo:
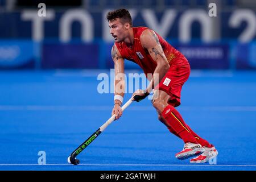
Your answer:
[[[218,155],[218,151],[214,146],[211,147],[204,147],[203,154],[197,156],[196,158],[191,159],[190,163],[205,163],[209,159],[212,159]]]

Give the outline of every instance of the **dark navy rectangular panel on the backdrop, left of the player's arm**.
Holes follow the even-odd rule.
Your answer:
[[[42,68],[98,68],[99,45],[44,43]]]

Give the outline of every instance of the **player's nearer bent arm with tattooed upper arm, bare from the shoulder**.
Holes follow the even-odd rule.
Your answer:
[[[158,36],[155,34],[154,31],[143,31],[141,35],[141,44],[142,47],[144,49],[147,49],[147,51],[150,53],[150,56],[156,62],[157,66],[152,75],[150,84],[148,84],[147,86],[146,94],[141,93],[141,90],[137,90],[137,92],[134,93],[140,96],[138,97],[138,100],[139,98],[141,98],[142,100],[143,98],[148,96],[151,90],[154,89],[156,85],[158,85],[159,81],[162,80],[162,78],[164,77],[164,75],[166,75],[168,69],[170,68],[166,55],[164,55],[163,48],[159,42]]]

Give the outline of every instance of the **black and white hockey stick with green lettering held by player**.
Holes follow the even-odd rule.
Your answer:
[[[131,102],[133,102],[133,97],[130,98],[130,100],[122,106],[122,110],[125,110],[126,107],[128,107],[131,104]],[[90,137],[86,139],[85,142],[83,142],[79,147],[77,147],[76,150],[73,151],[71,155],[68,157],[68,163],[74,165],[79,164],[80,161],[79,159],[76,159],[76,156],[79,155],[90,143],[92,143],[93,140],[96,139],[98,135],[100,135],[106,129],[106,127],[108,127],[110,123],[114,121],[114,119],[115,115],[112,115],[112,117],[110,117],[108,121],[106,121],[97,131],[90,135]]]

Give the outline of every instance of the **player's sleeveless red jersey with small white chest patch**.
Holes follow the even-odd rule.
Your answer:
[[[118,51],[120,52],[123,59],[127,59],[133,61],[134,63],[137,63],[143,69],[146,76],[147,73],[154,73],[157,65],[150,56],[150,53],[147,51],[147,49],[144,49],[142,47],[140,41],[142,32],[147,29],[150,28],[133,27],[134,44],[131,48],[127,47],[124,42],[115,43],[115,46],[117,46]],[[164,55],[166,55],[170,67],[176,64],[188,65],[187,59],[185,59],[185,57],[179,51],[177,51],[168,42],[166,42],[166,40],[164,40],[162,36],[158,35],[156,32],[155,34],[158,36],[159,42],[164,51]]]

